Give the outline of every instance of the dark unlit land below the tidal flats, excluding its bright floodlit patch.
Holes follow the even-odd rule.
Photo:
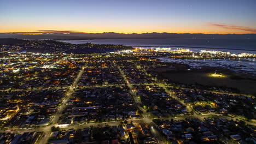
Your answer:
[[[256,79],[251,75],[238,74],[234,71],[223,68],[205,67],[202,69],[187,70],[187,65],[175,65],[176,70],[156,70],[159,76],[168,79],[174,83],[183,83],[185,85],[202,85],[208,87],[223,87],[237,89],[237,92],[256,95]],[[215,71],[221,71],[226,77],[211,77]]]

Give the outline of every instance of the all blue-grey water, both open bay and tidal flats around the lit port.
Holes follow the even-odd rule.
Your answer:
[[[72,44],[123,44],[133,47],[170,47],[172,49],[189,49],[192,52],[200,50],[218,50],[231,53],[255,53],[256,40],[253,39],[92,39],[92,40],[60,40]],[[162,62],[188,64],[191,68],[223,67],[238,73],[256,76],[255,58],[238,59],[173,59],[159,58]]]

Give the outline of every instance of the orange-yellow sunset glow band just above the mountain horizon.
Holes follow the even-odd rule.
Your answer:
[[[113,24],[113,23],[111,23]],[[193,23],[194,24],[194,23]],[[69,33],[104,33],[104,32],[115,32],[115,33],[204,33],[204,34],[247,34],[253,32],[243,31],[241,29],[224,29],[219,27],[210,27],[206,25],[194,24],[190,26],[184,25],[158,25],[154,23],[153,25],[44,25],[44,26],[27,26],[27,27],[15,27],[7,26],[4,29],[0,26],[0,33],[21,33],[21,34],[43,34],[43,33],[54,33],[54,32],[43,32],[43,31],[73,31],[73,32],[60,32],[63,34]],[[39,31],[40,30],[40,31]],[[256,32],[254,32],[256,33]]]

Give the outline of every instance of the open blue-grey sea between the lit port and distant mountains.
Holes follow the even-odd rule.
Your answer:
[[[234,53],[256,53],[254,39],[92,39],[92,40],[60,40],[72,44],[123,44],[138,47],[183,47],[198,51],[205,49],[222,49]]]

